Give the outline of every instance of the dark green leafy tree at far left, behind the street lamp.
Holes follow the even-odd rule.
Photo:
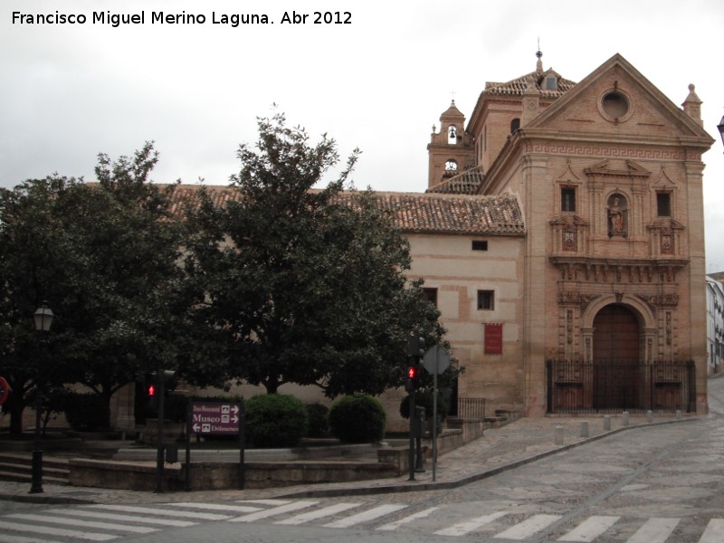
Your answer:
[[[150,183],[156,162],[147,143],[115,162],[100,155],[98,184],[56,175],[0,190],[0,373],[14,432],[39,364],[48,389],[81,383],[108,405],[138,370],[174,363],[179,230],[173,186]],[[56,314],[47,346],[33,328],[43,301]]]

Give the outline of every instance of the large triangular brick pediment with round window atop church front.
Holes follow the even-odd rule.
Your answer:
[[[682,85],[683,86],[683,85]],[[687,90],[683,86],[682,94]],[[580,81],[547,110],[532,119],[526,129],[555,130],[558,133],[601,137],[614,135],[622,142],[646,138],[713,139],[700,123],[687,115],[651,81],[615,54]]]

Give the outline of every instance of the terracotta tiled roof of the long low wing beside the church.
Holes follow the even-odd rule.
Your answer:
[[[200,186],[176,186],[173,211],[181,214],[184,203]],[[238,197],[229,186],[205,186],[216,205]],[[355,192],[338,195],[340,203],[351,203]],[[523,235],[525,223],[518,199],[513,195],[473,196],[420,193],[373,193],[380,209],[390,213],[393,223],[409,233],[497,233]]]

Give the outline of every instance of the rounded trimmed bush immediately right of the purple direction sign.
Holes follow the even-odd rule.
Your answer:
[[[307,408],[292,395],[255,395],[246,402],[246,438],[257,447],[293,447],[308,425]]]

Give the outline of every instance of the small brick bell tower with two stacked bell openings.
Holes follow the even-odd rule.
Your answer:
[[[465,133],[465,116],[455,106],[455,100],[452,100],[450,107],[440,116],[439,132],[433,125],[427,154],[428,188],[474,166],[472,138]]]

